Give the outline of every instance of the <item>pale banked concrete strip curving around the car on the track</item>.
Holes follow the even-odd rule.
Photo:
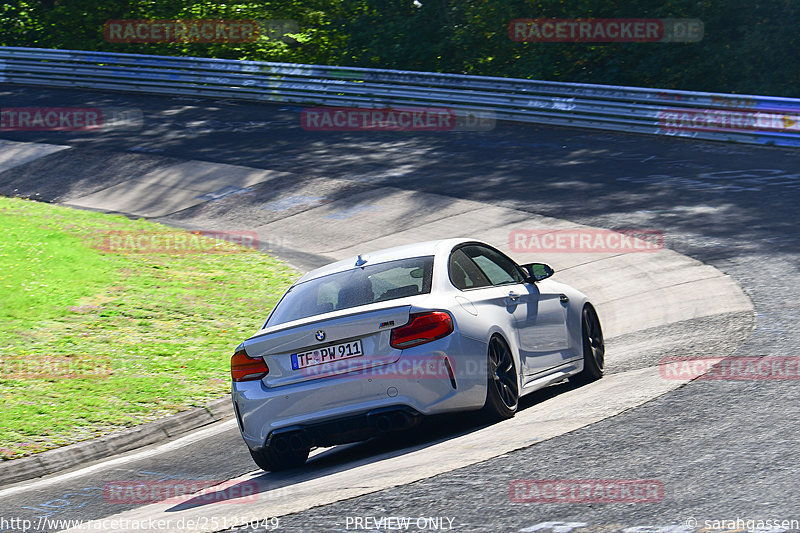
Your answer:
[[[120,164],[109,164],[114,158]],[[71,168],[93,169],[91,179],[60,170]],[[247,517],[277,516],[410,483],[614,416],[685,383],[660,375],[658,361],[665,355],[701,355],[712,342],[717,343],[717,356],[727,355],[752,328],[753,306],[730,277],[671,250],[512,251],[509,235],[514,230],[587,228],[514,209],[351,180],[304,181],[285,172],[235,165],[10,142],[0,145],[0,171],[4,187],[16,189],[0,190],[3,194],[38,194],[65,205],[184,228],[255,231],[263,248],[300,269],[398,244],[475,237],[520,262],[551,264],[556,279],[596,302],[608,344],[609,374],[604,379],[544,400],[491,427],[402,455],[370,458],[318,479],[298,480],[275,494],[263,477],[247,474],[234,482],[263,484],[258,502],[213,504],[214,514],[240,517],[242,523]],[[731,323],[737,324],[733,330],[724,327]],[[719,351],[722,338],[728,350],[724,354]],[[152,504],[116,517],[190,519],[202,513],[208,509]]]

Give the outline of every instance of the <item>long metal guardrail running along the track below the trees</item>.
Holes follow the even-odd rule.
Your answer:
[[[537,124],[800,146],[797,98],[11,47],[0,47],[0,82],[306,105],[438,106]]]

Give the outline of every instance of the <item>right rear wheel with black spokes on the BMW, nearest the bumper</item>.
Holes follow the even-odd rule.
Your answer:
[[[489,339],[486,403],[483,413],[490,420],[505,420],[517,412],[519,386],[514,355],[508,343],[495,335]]]

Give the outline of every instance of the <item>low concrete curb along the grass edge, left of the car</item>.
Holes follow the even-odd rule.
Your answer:
[[[233,417],[230,395],[212,400],[203,407],[115,431],[109,435],[62,446],[20,459],[0,463],[0,485],[27,481],[68,470],[90,461],[105,459],[149,444],[165,441],[182,433]]]

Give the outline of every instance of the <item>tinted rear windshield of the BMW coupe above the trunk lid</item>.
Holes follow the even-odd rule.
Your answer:
[[[433,257],[356,267],[299,283],[284,295],[266,326],[431,292]]]

